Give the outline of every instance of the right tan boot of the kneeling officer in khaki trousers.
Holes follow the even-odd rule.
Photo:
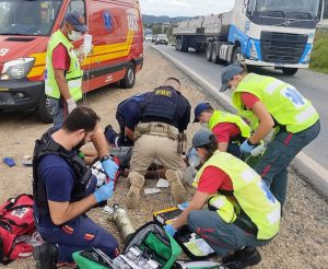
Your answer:
[[[177,203],[185,202],[187,200],[187,191],[181,183],[183,173],[174,169],[167,169],[165,177],[169,182],[171,192],[174,200]]]

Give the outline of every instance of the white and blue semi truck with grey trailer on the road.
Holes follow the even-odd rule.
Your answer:
[[[235,0],[233,10],[180,22],[175,48],[206,52],[215,63],[273,67],[286,75],[308,68],[325,0]]]

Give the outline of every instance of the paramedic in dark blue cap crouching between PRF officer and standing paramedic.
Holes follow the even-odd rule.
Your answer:
[[[214,110],[208,102],[201,102],[195,107],[194,122],[215,134],[220,151],[241,159],[239,145],[250,137],[251,129],[239,116]]]

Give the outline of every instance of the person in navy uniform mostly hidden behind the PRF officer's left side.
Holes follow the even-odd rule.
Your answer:
[[[116,119],[120,132],[117,133],[110,125],[105,128],[105,137],[116,147],[131,147],[134,143],[134,127],[140,121],[142,104],[149,92],[133,95],[122,101],[116,110]]]

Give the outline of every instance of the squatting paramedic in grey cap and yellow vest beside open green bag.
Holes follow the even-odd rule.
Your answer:
[[[202,129],[194,136],[201,168],[191,201],[172,224],[171,235],[185,224],[223,257],[226,268],[245,268],[261,260],[257,246],[279,232],[280,203],[245,162],[218,150],[215,136]],[[202,209],[208,203],[208,209]],[[232,255],[229,255],[233,250]]]

